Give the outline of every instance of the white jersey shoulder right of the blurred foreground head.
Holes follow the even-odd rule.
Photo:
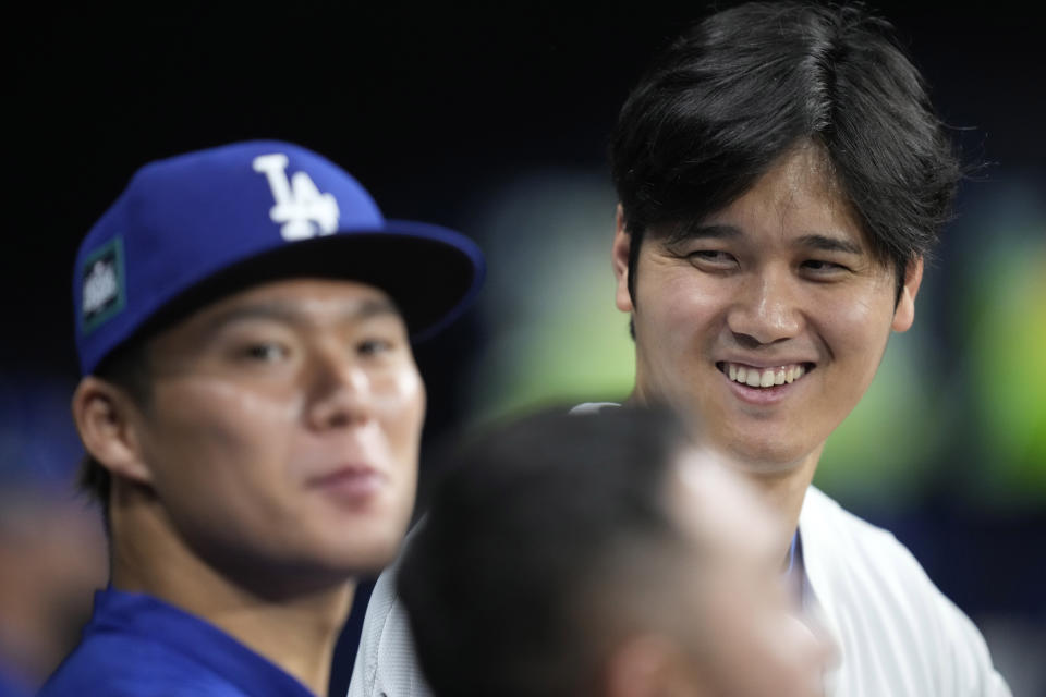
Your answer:
[[[973,622],[893,535],[816,487],[799,533],[806,602],[841,652],[827,695],[1010,697]]]

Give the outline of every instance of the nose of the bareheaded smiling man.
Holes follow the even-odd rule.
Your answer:
[[[727,315],[727,326],[746,347],[795,337],[802,329],[793,279],[784,271],[765,270],[751,277]]]

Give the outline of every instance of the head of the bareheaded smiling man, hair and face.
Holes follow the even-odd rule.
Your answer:
[[[892,27],[863,5],[711,14],[632,90],[611,166],[636,395],[756,472],[815,465],[912,325],[961,176]]]

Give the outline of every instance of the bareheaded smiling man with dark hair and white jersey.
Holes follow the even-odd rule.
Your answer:
[[[891,332],[912,326],[962,176],[889,23],[860,4],[711,14],[632,90],[611,168],[630,399],[701,425],[777,511],[782,566],[839,647],[826,693],[1009,695],[911,553],[811,486]],[[353,697],[425,694],[392,597],[379,582]]]

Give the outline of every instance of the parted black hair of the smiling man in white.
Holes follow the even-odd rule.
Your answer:
[[[633,303],[645,234],[725,208],[807,143],[873,255],[895,266],[899,297],[909,262],[950,218],[962,168],[890,23],[861,3],[800,1],[711,14],[655,58],[622,107],[610,160]]]

